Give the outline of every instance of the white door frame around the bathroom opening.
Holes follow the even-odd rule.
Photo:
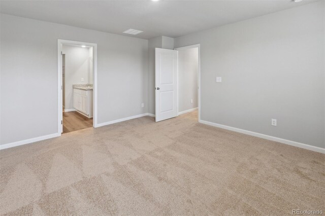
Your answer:
[[[85,45],[93,48],[93,127],[98,127],[97,122],[97,44],[79,42],[79,41],[68,41],[68,40],[57,40],[57,105],[58,105],[58,121],[57,121],[57,133],[62,134],[63,121],[62,116],[62,45]]]

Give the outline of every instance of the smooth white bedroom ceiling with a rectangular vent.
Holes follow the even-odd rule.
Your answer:
[[[225,1],[1,1],[1,13],[109,33],[133,28],[150,39],[181,35],[315,2]]]

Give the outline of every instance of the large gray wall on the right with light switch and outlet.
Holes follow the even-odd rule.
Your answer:
[[[324,148],[324,20],[321,1],[176,38],[201,44],[202,120]]]

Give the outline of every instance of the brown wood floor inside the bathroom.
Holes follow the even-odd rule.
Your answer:
[[[63,112],[63,132],[69,133],[76,130],[92,127],[92,118],[87,118],[77,111]]]

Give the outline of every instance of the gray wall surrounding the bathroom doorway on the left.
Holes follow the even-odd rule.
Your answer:
[[[98,123],[147,113],[147,40],[5,14],[0,24],[2,145],[57,132],[57,39],[98,44]]]

